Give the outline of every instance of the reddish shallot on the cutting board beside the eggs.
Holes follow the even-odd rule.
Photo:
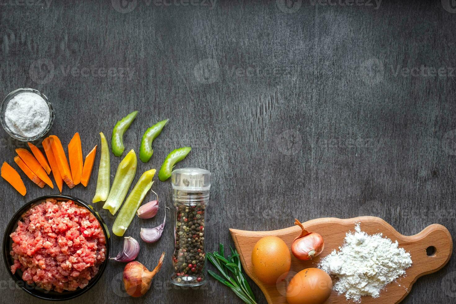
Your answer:
[[[295,258],[301,261],[307,261],[319,255],[325,249],[323,237],[316,232],[307,232],[301,222],[295,219],[295,224],[301,227],[302,232],[296,237],[291,245],[291,252]]]

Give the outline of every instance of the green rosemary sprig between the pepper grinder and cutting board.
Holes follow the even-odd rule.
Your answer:
[[[254,293],[250,289],[249,283],[242,273],[241,260],[237,250],[231,248],[231,256],[225,258],[223,244],[220,244],[218,252],[207,252],[207,258],[215,268],[221,273],[221,276],[212,270],[208,273],[217,281],[231,288],[234,293],[247,304],[257,304]],[[233,275],[233,277],[231,277]]]

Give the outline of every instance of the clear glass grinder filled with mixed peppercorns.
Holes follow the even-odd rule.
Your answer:
[[[176,220],[171,282],[180,286],[202,285],[207,279],[204,218],[211,172],[199,168],[176,169],[171,174],[171,185]]]

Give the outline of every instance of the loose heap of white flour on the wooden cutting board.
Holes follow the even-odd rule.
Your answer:
[[[380,296],[386,284],[393,282],[412,265],[410,253],[398,248],[398,242],[383,238],[382,234],[368,235],[359,223],[354,233],[347,233],[339,252],[333,250],[319,268],[336,275],[334,290],[347,300],[361,302],[361,296]]]

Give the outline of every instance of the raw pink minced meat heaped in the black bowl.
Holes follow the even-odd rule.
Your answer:
[[[73,201],[54,199],[22,215],[13,240],[11,272],[46,290],[84,288],[106,258],[106,239],[93,214]]]

